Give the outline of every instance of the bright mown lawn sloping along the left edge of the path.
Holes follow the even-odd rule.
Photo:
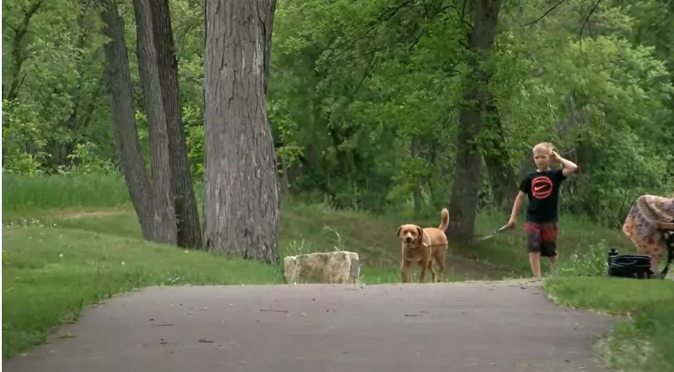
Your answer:
[[[204,252],[33,226],[3,231],[3,359],[74,321],[84,305],[144,286],[281,283],[273,266]]]

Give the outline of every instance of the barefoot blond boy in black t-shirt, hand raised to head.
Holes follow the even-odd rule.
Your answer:
[[[559,186],[569,174],[578,172],[578,165],[568,161],[553,150],[552,143],[539,143],[532,149],[536,172],[524,176],[519,185],[517,198],[512,205],[508,225],[515,226],[517,211],[528,196],[527,217],[524,231],[527,233],[527,250],[534,279],[541,279],[541,255],[557,261],[557,205]],[[562,164],[558,170],[550,169],[550,162]]]

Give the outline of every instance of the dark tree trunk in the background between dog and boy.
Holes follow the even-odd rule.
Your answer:
[[[483,113],[489,98],[489,78],[483,62],[494,45],[500,5],[500,0],[476,0],[474,4],[475,16],[468,44],[471,76],[459,113],[457,159],[450,198],[450,212],[453,217],[448,229],[448,233],[459,240],[470,240],[475,231],[477,192],[482,166],[476,140],[482,128]]]

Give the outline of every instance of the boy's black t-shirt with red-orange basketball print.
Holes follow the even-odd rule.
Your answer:
[[[524,176],[519,190],[529,197],[527,221],[557,222],[559,185],[565,178],[562,169],[536,171]]]

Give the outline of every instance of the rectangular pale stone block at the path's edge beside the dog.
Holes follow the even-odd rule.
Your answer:
[[[309,253],[283,259],[285,281],[292,283],[358,283],[358,253]]]

